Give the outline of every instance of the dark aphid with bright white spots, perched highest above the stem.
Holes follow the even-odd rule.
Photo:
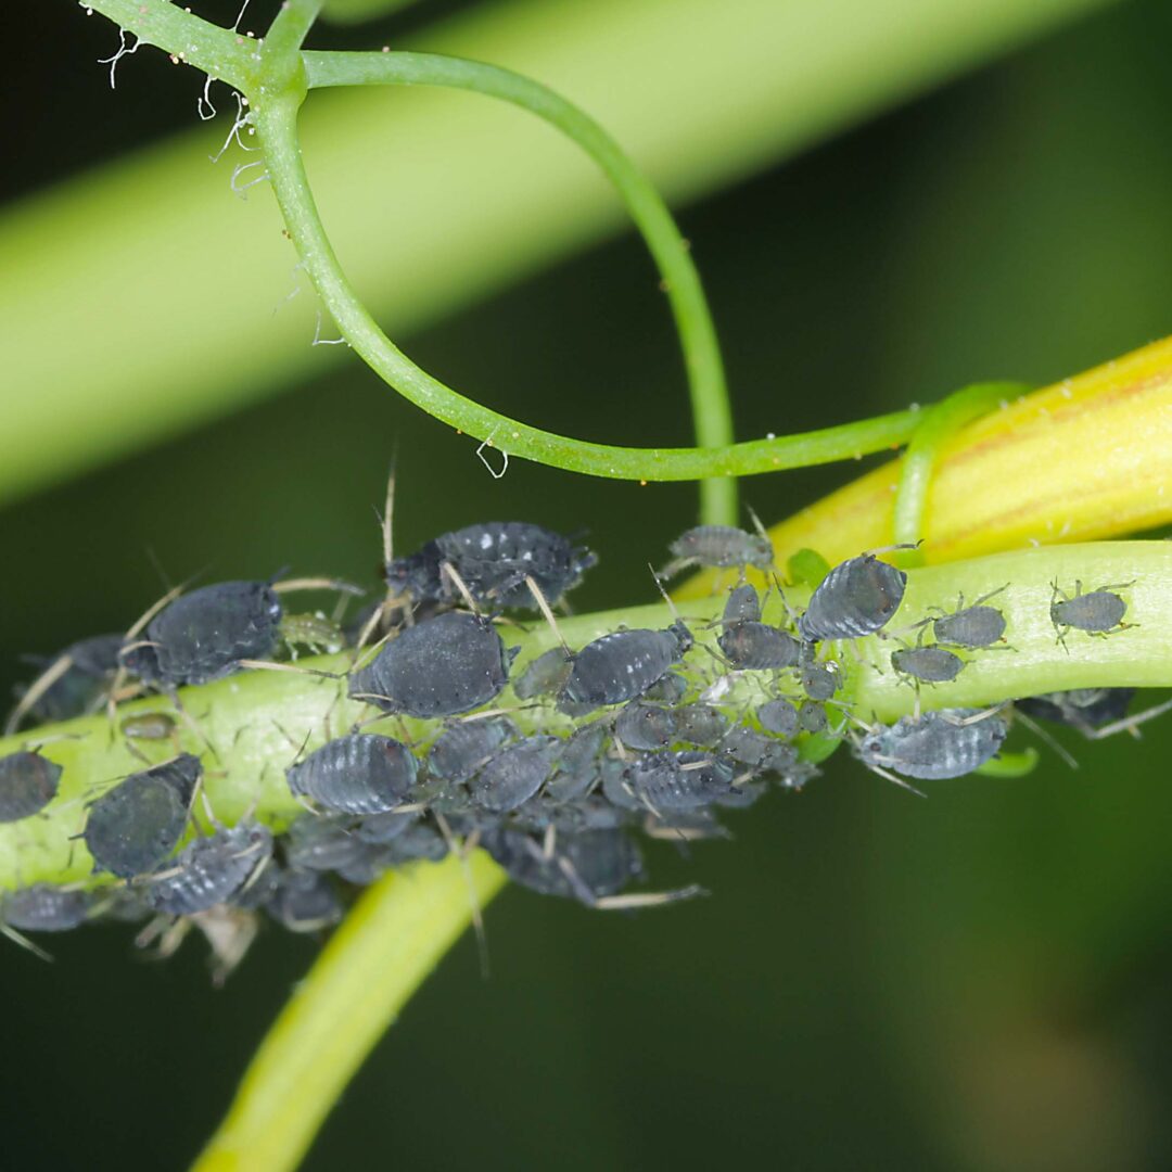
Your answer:
[[[531,611],[536,604],[526,577],[551,604],[558,602],[598,564],[598,557],[540,525],[486,522],[442,533],[416,553],[388,563],[387,586],[415,602],[455,602],[458,594],[443,572],[444,563],[456,570],[477,604]]]

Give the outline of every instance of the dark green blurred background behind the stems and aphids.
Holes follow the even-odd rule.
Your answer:
[[[427,46],[427,21],[470,7],[430,0],[315,43]],[[6,196],[191,124],[190,76],[142,54],[111,95],[94,64],[110,27],[27,8],[0,80],[19,159]],[[1168,333],[1170,39],[1166,5],[1109,8],[681,207],[738,435],[977,379],[1048,381]],[[407,341],[518,418],[688,442],[670,322],[629,236]],[[0,407],[20,395],[0,386]],[[401,548],[490,517],[588,530],[602,560],[578,609],[649,600],[647,561],[694,520],[687,485],[520,462],[492,481],[466,440],[353,360],[0,511],[0,694],[20,654],[124,627],[161,592],[157,567],[373,582],[372,506],[396,444]],[[856,471],[744,495],[775,520]],[[488,915],[491,979],[463,941],[306,1166],[1172,1166],[1170,734],[1067,741],[1077,772],[1047,754],[1024,781],[968,778],[927,802],[839,755],[808,792],[735,816],[734,841],[649,852],[656,885],[713,892],[660,914],[506,892]],[[268,933],[216,992],[196,941],[165,965],[116,928],[52,943],[54,966],[15,948],[0,965],[11,1167],[182,1167],[315,950]]]

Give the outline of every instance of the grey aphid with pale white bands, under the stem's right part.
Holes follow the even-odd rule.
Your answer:
[[[1001,748],[1006,732],[1006,722],[995,713],[941,709],[870,729],[857,752],[870,769],[941,781],[983,765]]]

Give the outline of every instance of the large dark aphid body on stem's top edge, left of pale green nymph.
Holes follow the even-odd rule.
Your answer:
[[[267,582],[217,582],[169,602],[132,639],[122,662],[144,683],[177,688],[266,659],[280,635],[281,602]]]

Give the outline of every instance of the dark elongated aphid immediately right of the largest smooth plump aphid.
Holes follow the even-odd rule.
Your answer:
[[[622,704],[641,696],[691,649],[691,633],[682,622],[666,631],[614,631],[587,643],[574,656],[570,679],[558,699],[586,710]]]

